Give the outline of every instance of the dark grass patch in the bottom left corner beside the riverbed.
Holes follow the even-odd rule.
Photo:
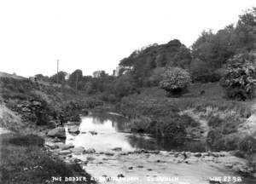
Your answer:
[[[79,164],[66,164],[61,159],[53,157],[50,152],[45,150],[43,143],[44,139],[38,135],[0,135],[1,183],[49,183],[52,181],[52,176],[62,178],[84,176],[87,181],[83,181],[83,183],[94,183],[90,181],[90,175],[85,173]]]

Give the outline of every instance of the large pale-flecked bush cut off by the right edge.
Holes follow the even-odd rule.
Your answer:
[[[231,99],[245,101],[253,98],[256,87],[256,68],[253,55],[236,55],[229,60],[222,86]]]

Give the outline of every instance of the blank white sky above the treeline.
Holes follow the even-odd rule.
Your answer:
[[[112,73],[135,49],[236,23],[255,0],[0,0],[0,71]]]

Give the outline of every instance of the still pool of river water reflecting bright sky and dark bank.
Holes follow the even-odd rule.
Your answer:
[[[82,118],[79,126],[80,134],[67,133],[67,143],[72,142],[77,147],[93,147],[96,151],[108,151],[114,147],[122,147],[124,151],[135,149],[148,150],[177,150],[205,152],[205,143],[201,141],[184,142],[183,146],[176,145],[172,140],[158,139],[148,135],[125,133],[128,119],[109,113],[92,113]],[[90,134],[90,131],[97,135]]]

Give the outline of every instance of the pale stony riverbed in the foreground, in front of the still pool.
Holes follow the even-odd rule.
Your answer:
[[[78,129],[71,130],[78,133]],[[60,132],[63,134],[63,129]],[[125,152],[122,147],[99,152],[93,147],[66,144],[56,137],[48,138],[45,147],[67,163],[81,164],[100,183],[225,183],[226,177],[231,178],[230,183],[253,183],[247,181],[253,169],[231,152]]]

